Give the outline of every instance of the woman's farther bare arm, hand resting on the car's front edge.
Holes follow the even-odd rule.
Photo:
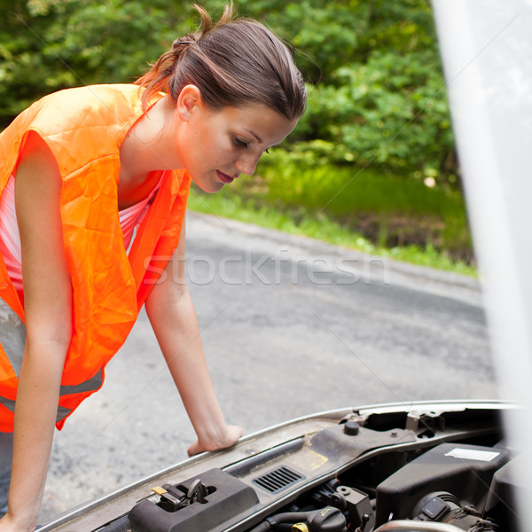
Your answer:
[[[146,312],[198,435],[188,450],[192,456],[230,447],[239,440],[242,429],[225,423],[208,375],[200,327],[184,283],[184,241],[183,225],[179,246],[146,300]]]

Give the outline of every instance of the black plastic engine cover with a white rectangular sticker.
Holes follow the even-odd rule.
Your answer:
[[[389,519],[410,519],[421,497],[447,491],[460,501],[483,505],[493,474],[505,465],[509,452],[492,447],[443,443],[387,477],[377,486],[379,526]]]

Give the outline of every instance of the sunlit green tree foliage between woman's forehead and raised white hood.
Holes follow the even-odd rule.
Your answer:
[[[455,184],[454,139],[427,1],[239,2],[301,51],[309,108],[292,146],[326,162]],[[319,143],[316,140],[319,140]]]

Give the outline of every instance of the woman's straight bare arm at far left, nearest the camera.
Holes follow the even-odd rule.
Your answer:
[[[72,288],[63,249],[60,186],[49,148],[30,133],[15,180],[27,340],[15,407],[9,511],[0,520],[0,530],[35,528],[72,335]]]

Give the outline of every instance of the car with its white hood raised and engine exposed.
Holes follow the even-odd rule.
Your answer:
[[[325,411],[66,512],[42,532],[524,529],[532,461],[530,5],[434,0],[501,387],[515,403]]]

